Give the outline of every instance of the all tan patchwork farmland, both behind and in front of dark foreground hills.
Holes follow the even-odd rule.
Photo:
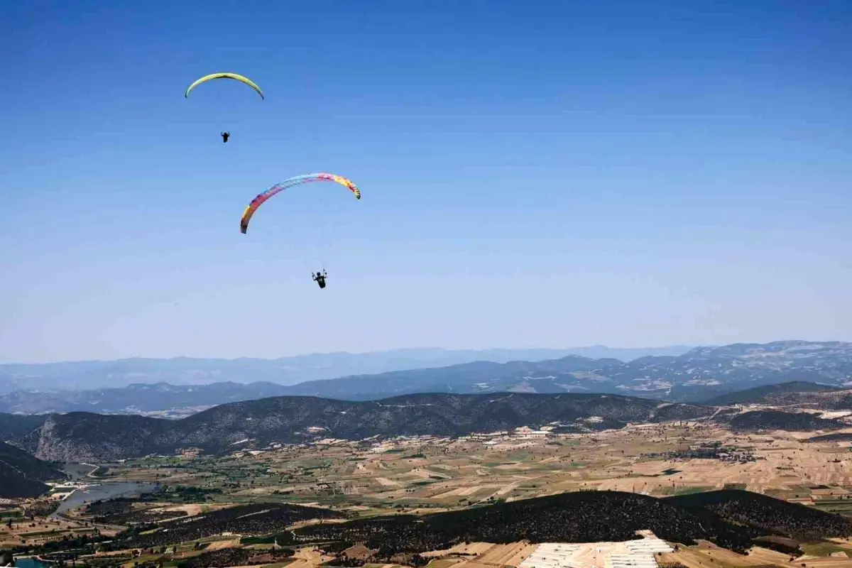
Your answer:
[[[230,456],[204,456],[190,450],[183,456],[101,464],[108,468],[104,482],[156,482],[168,488],[166,496],[156,502],[135,502],[118,517],[111,517],[113,513],[104,509],[98,513],[101,517],[78,510],[71,513],[71,520],[16,520],[12,527],[4,524],[0,528],[0,547],[92,535],[95,520],[112,525],[158,524],[176,516],[257,502],[330,508],[349,517],[365,518],[388,513],[435,513],[582,490],[672,496],[736,488],[825,511],[852,512],[850,444],[803,441],[814,435],[734,433],[708,422],[676,422],[588,434],[521,430],[465,439],[326,439],[312,445],[235,450]],[[201,554],[198,542],[203,542],[205,553],[269,546],[247,543],[239,535],[212,536],[171,547],[169,558],[175,562],[166,565]],[[594,552],[606,546],[583,547],[585,552],[561,565],[620,568],[618,562],[606,560],[608,554]],[[431,559],[433,568],[550,568],[523,564],[535,551],[536,546],[528,542],[473,542],[422,556]],[[151,552],[146,556],[133,550],[113,551],[95,554],[89,560],[102,564],[115,558],[132,566],[144,565],[163,554]],[[847,557],[852,556],[852,542],[847,540],[833,539],[805,552],[805,556],[792,560],[790,555],[768,548],[751,548],[750,554],[741,555],[700,542],[653,558],[660,565],[687,568],[852,568],[852,559]],[[285,562],[262,565],[315,568],[332,558],[308,547],[297,549],[296,555]]]

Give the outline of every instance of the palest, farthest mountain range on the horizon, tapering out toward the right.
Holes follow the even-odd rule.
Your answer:
[[[0,393],[17,390],[80,390],[168,382],[202,385],[211,382],[298,382],[367,375],[392,370],[442,367],[473,361],[542,361],[580,355],[592,359],[630,361],[649,355],[680,355],[690,347],[448,350],[433,347],[375,353],[314,353],[280,359],[118,359],[40,364],[0,364]]]

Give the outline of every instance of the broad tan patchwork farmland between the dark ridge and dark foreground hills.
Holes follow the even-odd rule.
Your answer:
[[[732,433],[682,422],[538,438],[512,433],[376,444],[330,439],[226,457],[149,457],[108,465],[111,480],[216,491],[206,497],[210,503],[263,498],[365,514],[590,489],[670,496],[726,487],[843,510],[852,488],[849,443],[803,443],[812,435]]]

